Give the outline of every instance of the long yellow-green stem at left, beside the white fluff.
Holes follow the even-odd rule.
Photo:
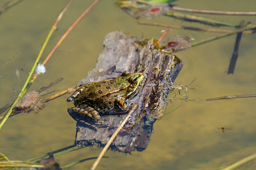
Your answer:
[[[71,3],[71,1],[68,1],[67,5],[69,5],[69,3]],[[30,71],[30,74],[28,75],[28,78],[27,78],[27,80],[26,80],[26,82],[25,82],[25,84],[24,84],[22,90],[20,91],[20,93],[19,93],[17,99],[14,101],[13,105],[11,105],[9,111],[6,113],[6,115],[5,115],[5,117],[3,118],[3,120],[1,121],[1,123],[0,123],[0,129],[1,129],[2,126],[5,124],[7,118],[10,116],[11,112],[13,112],[13,108],[14,108],[15,104],[18,103],[19,99],[27,92],[28,88],[30,88],[31,83],[28,84],[28,82],[30,82],[30,79],[31,79],[31,77],[32,77],[32,74],[34,73],[34,71],[35,71],[35,69],[36,69],[36,66],[38,65],[39,59],[41,58],[41,56],[42,56],[42,54],[43,54],[43,51],[44,51],[44,49],[46,48],[46,45],[47,45],[49,39],[50,39],[51,36],[52,36],[53,31],[55,31],[55,29],[56,29],[57,23],[59,23],[59,20],[61,19],[61,16],[63,16],[63,12],[65,12],[65,9],[67,9],[67,5],[66,5],[65,8],[60,12],[60,14],[59,14],[59,16],[58,16],[56,22],[53,24],[53,27],[52,27],[51,31],[49,32],[49,34],[48,34],[48,36],[47,36],[47,38],[46,38],[46,41],[44,41],[44,44],[43,44],[43,46],[42,46],[42,49],[40,50],[40,52],[39,52],[39,54],[38,54],[38,57],[36,58],[36,61],[35,61],[35,63],[34,63],[34,65],[33,65],[32,69],[31,69],[31,71]]]

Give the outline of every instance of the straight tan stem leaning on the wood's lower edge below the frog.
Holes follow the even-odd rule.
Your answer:
[[[127,116],[125,117],[125,119],[122,121],[121,125],[117,128],[117,130],[115,130],[114,134],[112,135],[112,137],[109,139],[108,143],[106,143],[105,147],[103,148],[103,150],[101,151],[100,155],[98,155],[97,160],[94,162],[94,164],[92,165],[92,168],[90,168],[90,170],[94,170],[98,163],[100,163],[100,160],[102,158],[102,156],[105,154],[105,152],[108,150],[110,144],[113,142],[114,138],[117,136],[118,132],[123,128],[123,126],[125,126],[126,122],[129,120],[131,114],[133,114],[133,112],[138,108],[138,105],[135,104],[133,106],[133,108],[131,108],[130,112],[127,114]]]

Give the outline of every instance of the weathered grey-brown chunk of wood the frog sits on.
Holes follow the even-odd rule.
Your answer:
[[[77,84],[112,79],[124,70],[142,72],[146,81],[142,90],[128,103],[138,109],[129,123],[118,133],[110,148],[121,152],[143,151],[150,141],[153,124],[163,117],[167,106],[167,95],[171,92],[183,62],[174,54],[164,53],[154,46],[154,39],[138,41],[136,37],[120,31],[111,32],[104,40],[104,50],[98,56],[96,66],[85,79]],[[104,147],[126,114],[108,114],[101,121],[113,126],[100,127],[97,131],[77,122],[75,144],[77,146]]]

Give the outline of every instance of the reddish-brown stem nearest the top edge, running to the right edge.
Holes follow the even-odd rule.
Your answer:
[[[241,12],[241,11],[211,11],[211,10],[193,10],[189,8],[181,8],[173,6],[172,10],[184,11],[184,12],[195,12],[200,14],[218,14],[218,15],[256,15],[256,12]]]

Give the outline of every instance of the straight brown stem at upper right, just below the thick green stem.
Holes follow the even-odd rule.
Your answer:
[[[143,25],[154,25],[154,26],[160,26],[160,27],[170,27],[175,29],[189,29],[192,31],[220,32],[220,33],[226,33],[231,31],[228,29],[205,29],[205,28],[199,28],[199,27],[187,27],[187,26],[180,26],[180,25],[160,24],[160,23],[147,23],[147,22],[138,22],[138,23]],[[252,34],[253,31],[243,31],[243,33]]]

